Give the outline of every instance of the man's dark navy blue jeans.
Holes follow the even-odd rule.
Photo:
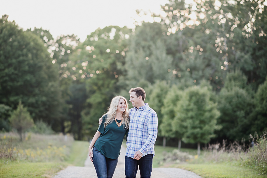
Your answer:
[[[153,154],[147,154],[139,160],[125,156],[125,176],[136,177],[139,166],[140,177],[150,177],[152,171],[152,160]]]

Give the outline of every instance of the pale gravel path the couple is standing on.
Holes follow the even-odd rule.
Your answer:
[[[113,177],[125,177],[124,175],[124,159],[126,149],[121,147],[121,154],[119,156],[118,164]],[[68,166],[61,170],[55,177],[97,177],[96,170],[89,156],[84,162],[84,167]],[[140,177],[138,170],[136,177]],[[200,177],[193,172],[179,169],[179,168],[152,168],[151,177]]]

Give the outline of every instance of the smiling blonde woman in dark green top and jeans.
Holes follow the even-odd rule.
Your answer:
[[[118,163],[122,140],[124,135],[127,139],[129,131],[127,100],[122,96],[114,97],[108,113],[102,117],[103,122],[89,146],[89,156],[95,166],[97,177],[112,177]]]

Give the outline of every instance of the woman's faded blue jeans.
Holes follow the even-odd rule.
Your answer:
[[[112,177],[118,163],[118,159],[106,158],[96,147],[93,147],[93,164],[97,177]]]

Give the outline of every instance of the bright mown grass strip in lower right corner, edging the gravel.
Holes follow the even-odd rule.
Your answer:
[[[175,164],[171,167],[189,170],[201,177],[266,177],[235,163]]]

